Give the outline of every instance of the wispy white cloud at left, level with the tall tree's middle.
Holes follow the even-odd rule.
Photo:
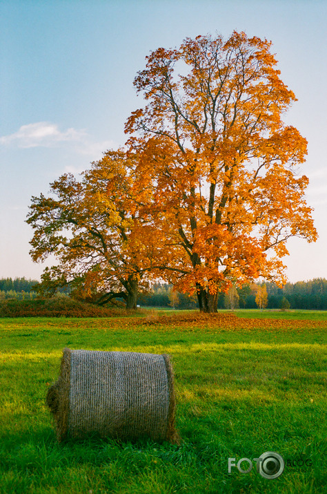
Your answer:
[[[17,132],[0,137],[0,144],[19,148],[53,148],[69,144],[75,152],[95,157],[109,148],[117,147],[115,142],[110,140],[97,142],[83,129],[70,128],[61,131],[57,124],[51,122],[22,125]]]

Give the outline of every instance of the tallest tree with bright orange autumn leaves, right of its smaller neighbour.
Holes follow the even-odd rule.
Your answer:
[[[217,297],[262,276],[284,283],[292,236],[315,241],[304,192],[307,142],[283,114],[296,101],[281,81],[271,43],[244,32],[187,38],[158,48],[135,78],[146,105],[126,123],[140,155],[138,187],[170,245],[162,275],[197,292],[204,312]]]

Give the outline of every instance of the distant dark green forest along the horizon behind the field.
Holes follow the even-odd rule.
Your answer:
[[[14,298],[31,300],[37,297],[33,291],[36,280],[26,278],[0,278],[0,300]],[[315,278],[310,281],[287,283],[283,288],[274,283],[253,283],[241,288],[232,287],[228,294],[221,293],[218,300],[219,309],[255,309],[258,289],[266,287],[267,309],[308,309],[327,310],[327,280]],[[174,292],[172,285],[155,283],[148,294],[139,295],[141,307],[172,307],[175,309],[196,309],[197,296]]]

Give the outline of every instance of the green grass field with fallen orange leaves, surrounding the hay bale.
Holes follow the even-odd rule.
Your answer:
[[[0,493],[326,492],[326,316],[0,319]],[[57,444],[44,399],[66,346],[169,353],[181,444]],[[237,463],[266,451],[284,457],[278,479],[255,468],[228,474],[229,457]]]

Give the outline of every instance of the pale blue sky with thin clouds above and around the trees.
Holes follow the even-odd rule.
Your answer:
[[[325,0],[0,0],[0,278],[40,279],[31,197],[126,142],[143,105],[132,82],[150,51],[233,30],[273,41],[298,99],[284,120],[308,140],[301,172],[319,239],[288,241],[286,275],[327,278],[326,19]]]

